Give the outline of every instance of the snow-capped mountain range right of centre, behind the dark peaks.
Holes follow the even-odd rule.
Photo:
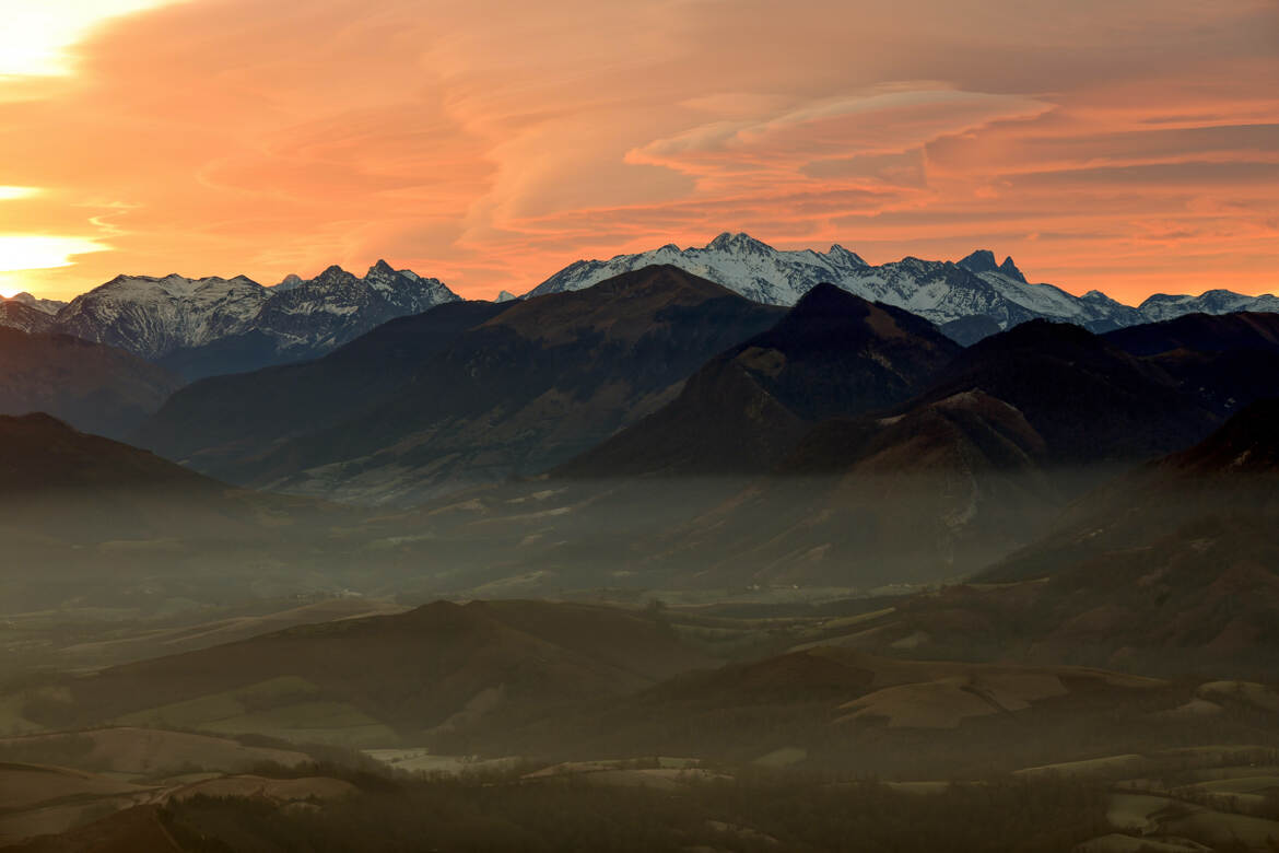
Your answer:
[[[1279,311],[1279,298],[1229,290],[1210,290],[1198,297],[1159,294],[1137,307],[1097,290],[1076,297],[1051,284],[1028,283],[1012,258],[996,263],[989,251],[973,252],[958,262],[907,257],[872,266],[838,244],[828,252],[779,251],[747,234],[729,233],[701,248],[668,244],[609,261],[577,261],[524,298],[579,290],[651,263],[671,263],[749,299],[779,306],[792,306],[813,285],[829,281],[865,299],[926,317],[966,344],[1037,317],[1100,333],[1197,311]]]

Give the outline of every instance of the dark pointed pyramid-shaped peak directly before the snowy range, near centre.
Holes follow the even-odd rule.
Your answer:
[[[712,358],[674,402],[556,473],[765,472],[811,423],[900,403],[958,352],[926,320],[819,284],[776,326]]]

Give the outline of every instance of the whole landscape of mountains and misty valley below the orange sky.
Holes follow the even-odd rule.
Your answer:
[[[1279,849],[1279,309],[744,234],[0,313],[0,848]]]

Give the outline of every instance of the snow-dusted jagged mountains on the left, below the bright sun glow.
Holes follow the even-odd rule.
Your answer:
[[[252,364],[318,356],[388,320],[458,298],[437,279],[385,261],[363,278],[331,266],[313,279],[293,275],[274,288],[242,275],[120,275],[67,304],[14,297],[0,324],[64,333],[159,362],[183,357],[189,364],[192,350],[201,348],[219,354],[251,349]],[[235,363],[243,366],[244,358]],[[211,367],[216,364],[196,372]]]

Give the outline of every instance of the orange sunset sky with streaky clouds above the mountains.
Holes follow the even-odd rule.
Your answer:
[[[1279,289],[1274,0],[0,0],[0,293],[747,231]]]

